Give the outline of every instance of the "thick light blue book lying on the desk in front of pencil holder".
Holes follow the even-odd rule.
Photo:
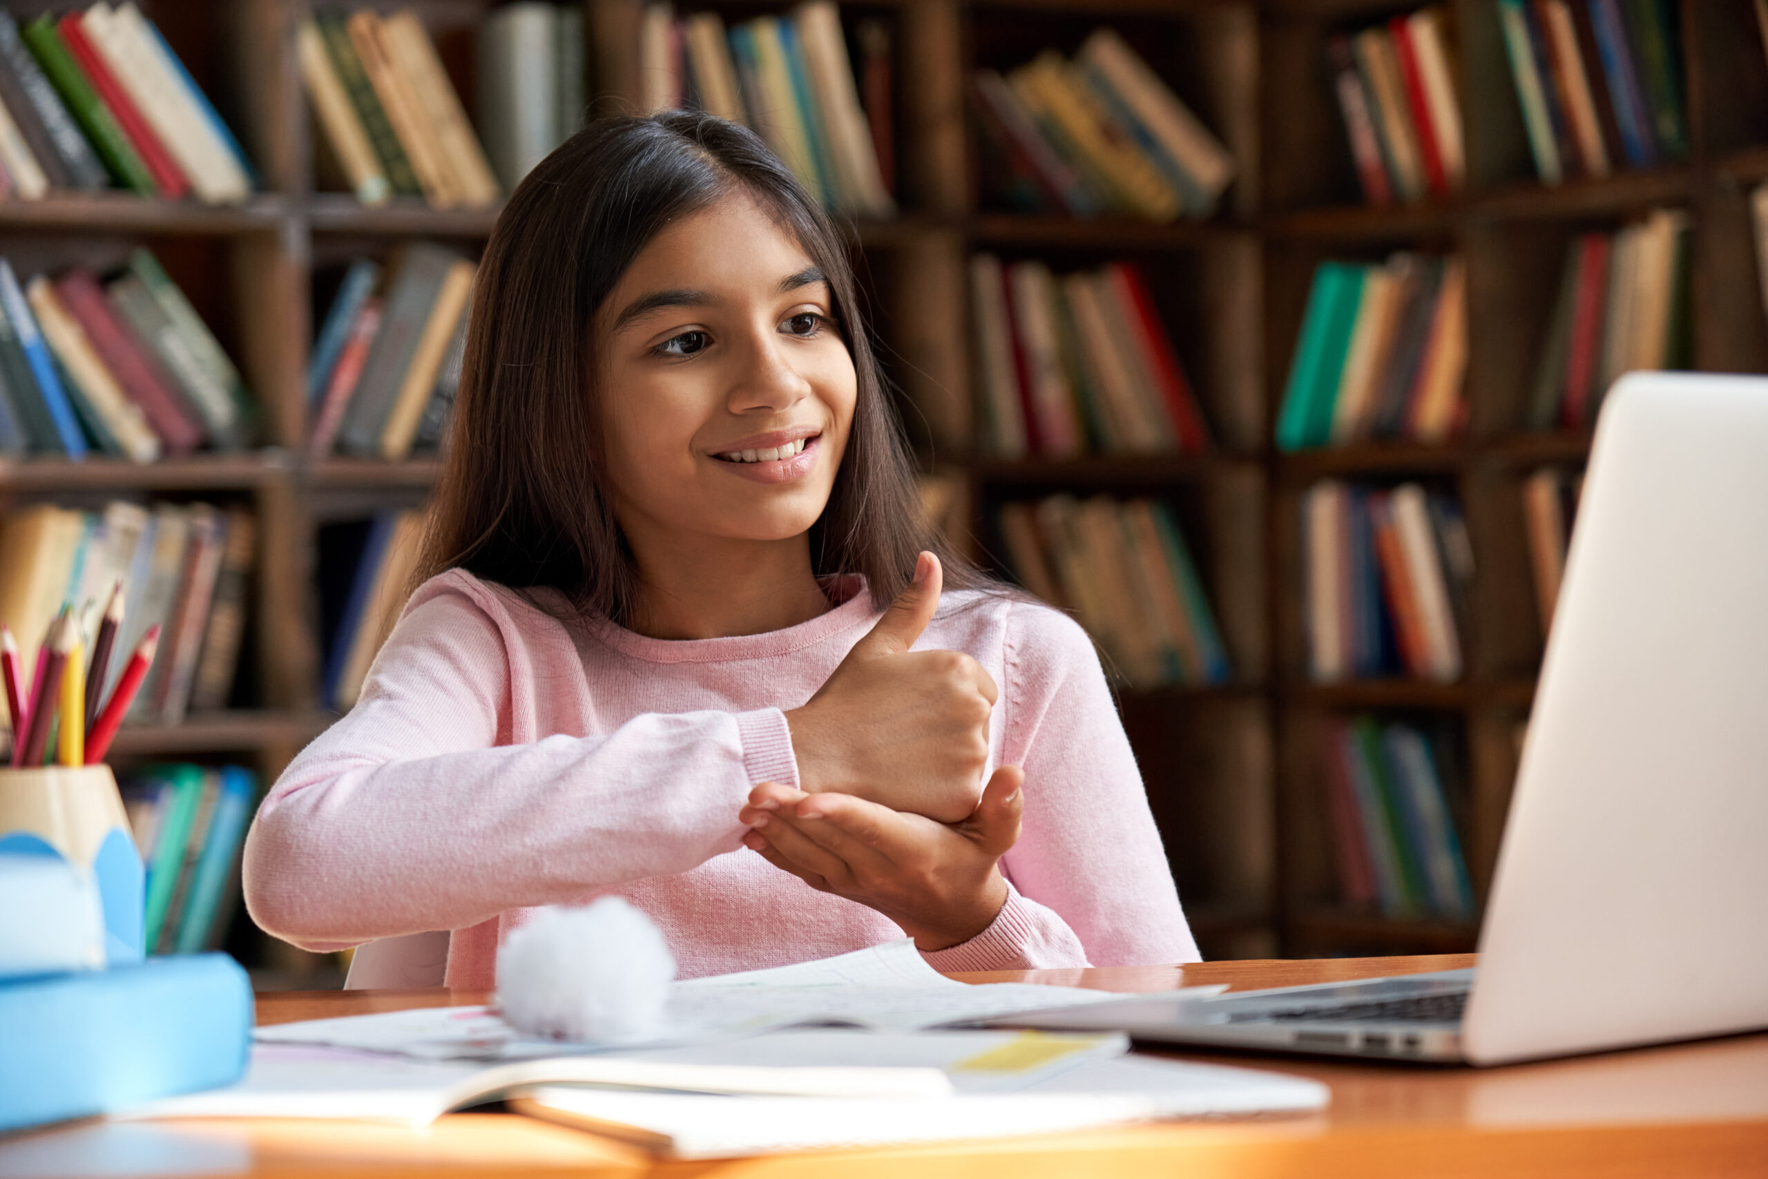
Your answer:
[[[0,1131],[232,1085],[251,981],[226,955],[0,983]]]

